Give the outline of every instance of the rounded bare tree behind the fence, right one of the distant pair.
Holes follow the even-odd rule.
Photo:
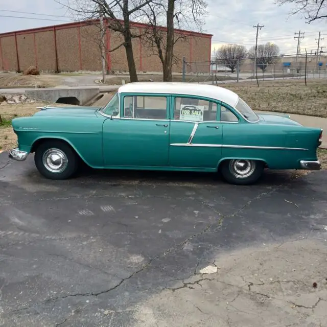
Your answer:
[[[256,66],[265,72],[268,65],[271,65],[277,61],[279,54],[279,47],[274,43],[267,42],[266,44],[259,44],[256,50]],[[252,46],[248,52],[248,56],[254,60],[255,58],[255,46]]]

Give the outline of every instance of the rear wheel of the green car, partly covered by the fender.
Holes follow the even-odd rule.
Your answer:
[[[224,179],[237,185],[253,184],[262,176],[264,162],[259,160],[230,159],[221,163],[220,171]]]

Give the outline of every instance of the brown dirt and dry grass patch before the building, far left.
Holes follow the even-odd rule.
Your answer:
[[[54,87],[60,85],[61,76],[41,74],[38,76],[22,75],[18,73],[2,73],[0,74],[0,88],[1,87],[23,87],[23,86],[37,86],[37,87]]]

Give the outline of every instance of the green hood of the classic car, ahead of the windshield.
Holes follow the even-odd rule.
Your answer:
[[[40,109],[35,116],[96,117],[97,107],[49,107]]]

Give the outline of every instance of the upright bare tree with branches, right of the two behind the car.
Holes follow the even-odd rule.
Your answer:
[[[143,40],[152,53],[159,56],[162,63],[164,81],[172,81],[173,61],[181,61],[174,55],[174,46],[181,40],[188,39],[188,34],[175,33],[175,29],[197,28],[204,24],[204,0],[154,0],[144,7],[144,22],[148,24]]]

